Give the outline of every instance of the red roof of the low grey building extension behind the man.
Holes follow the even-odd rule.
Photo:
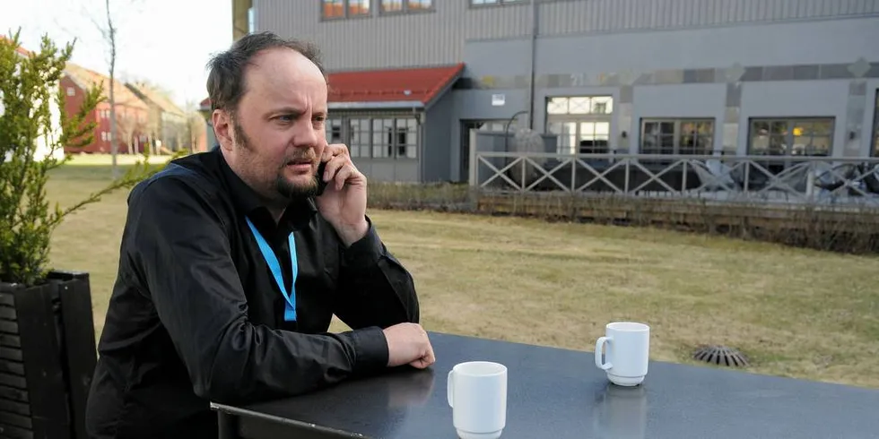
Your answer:
[[[457,79],[464,64],[329,73],[330,102],[417,101],[427,105]]]

